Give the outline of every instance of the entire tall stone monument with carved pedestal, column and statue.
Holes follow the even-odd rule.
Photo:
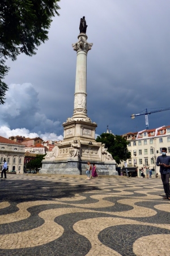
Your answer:
[[[63,141],[57,143],[42,161],[41,174],[81,175],[86,173],[87,162],[91,162],[96,164],[100,175],[117,175],[112,155],[104,144],[95,141],[97,124],[87,117],[87,52],[92,45],[84,32],[80,32],[78,42],[73,44],[77,52],[74,113],[63,123]]]

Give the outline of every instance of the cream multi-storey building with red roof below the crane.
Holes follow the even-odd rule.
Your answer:
[[[162,126],[152,130],[143,130],[135,133],[124,134],[128,143],[131,158],[127,159],[128,167],[148,167],[159,173],[156,166],[156,158],[162,153],[162,148],[167,147],[167,155],[170,155],[170,126]],[[121,164],[124,166],[124,163]]]

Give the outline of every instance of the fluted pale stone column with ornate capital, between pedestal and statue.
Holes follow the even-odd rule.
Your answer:
[[[87,118],[87,52],[91,49],[92,43],[87,42],[87,35],[81,32],[78,35],[78,42],[72,44],[77,52],[76,76],[74,93],[74,113],[73,119]]]

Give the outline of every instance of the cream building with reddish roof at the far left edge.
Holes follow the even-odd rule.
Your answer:
[[[16,171],[22,173],[24,169],[24,153],[25,146],[0,136],[0,159],[1,170],[3,159],[6,159],[8,171]]]

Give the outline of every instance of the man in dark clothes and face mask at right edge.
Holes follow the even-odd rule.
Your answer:
[[[167,154],[167,148],[162,148],[162,155],[158,156],[156,166],[160,166],[160,175],[164,186],[165,197],[163,199],[170,200],[169,175],[170,175],[170,156]]]

